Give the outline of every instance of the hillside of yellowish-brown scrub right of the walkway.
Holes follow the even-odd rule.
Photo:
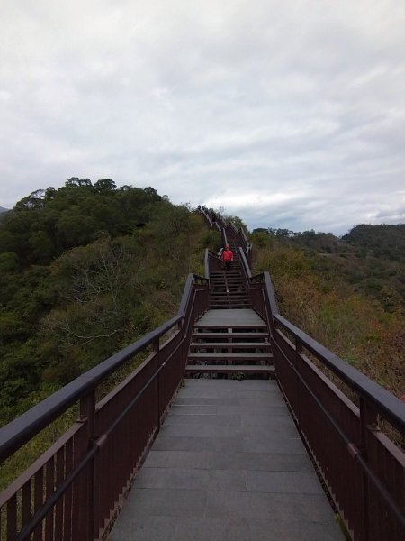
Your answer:
[[[405,225],[349,234],[258,229],[255,271],[270,271],[282,314],[358,370],[405,395]]]

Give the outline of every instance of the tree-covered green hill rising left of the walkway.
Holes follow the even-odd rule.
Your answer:
[[[0,221],[0,426],[175,314],[202,216],[154,188],[68,179]]]

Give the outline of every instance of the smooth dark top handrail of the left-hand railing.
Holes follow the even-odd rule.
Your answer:
[[[190,296],[193,280],[206,280],[198,275],[190,273],[187,277],[182,300],[176,316],[167,320],[161,326],[142,336],[122,349],[114,353],[111,357],[97,366],[81,374],[74,381],[67,383],[62,389],[57,390],[47,399],[29,409],[20,417],[17,417],[8,425],[0,428],[0,463],[4,462],[8,456],[13,454],[18,448],[27,443],[33,436],[36,436],[42,428],[48,426],[59,415],[64,413],[67,408],[76,403],[90,390],[93,390],[97,384],[105,379],[112,371],[121,367],[137,353],[143,351],[149,344],[153,344],[160,336],[165,335],[167,331],[173,328],[184,317],[184,309],[187,299]]]

